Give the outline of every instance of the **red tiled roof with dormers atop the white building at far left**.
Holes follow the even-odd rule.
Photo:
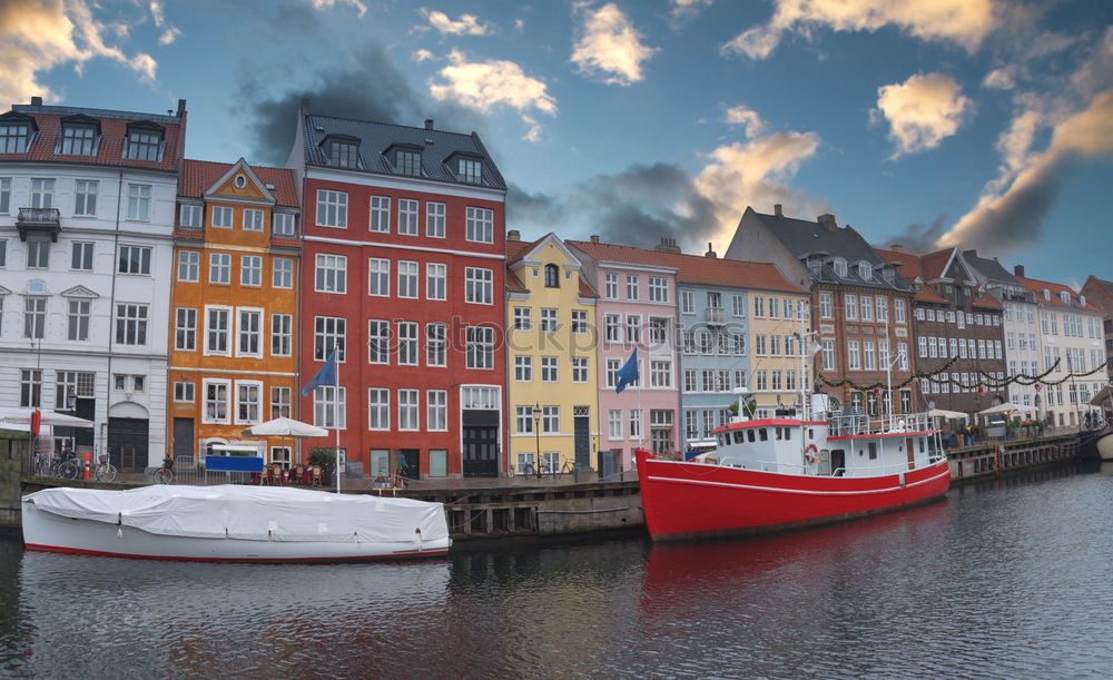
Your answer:
[[[85,165],[126,166],[157,170],[177,170],[185,146],[185,118],[101,109],[78,109],[38,105],[16,105],[12,111],[35,119],[39,128],[31,147],[24,154],[0,154],[0,160],[49,160],[55,162],[78,162]],[[56,154],[62,134],[62,118],[88,116],[100,124],[100,141],[96,156],[70,156]],[[165,131],[162,160],[136,160],[124,158],[124,142],[128,124],[150,121]]]

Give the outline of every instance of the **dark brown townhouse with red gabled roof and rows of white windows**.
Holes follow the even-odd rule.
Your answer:
[[[919,383],[925,403],[973,415],[1007,402],[1004,307],[984,292],[963,253],[917,256],[899,245],[876,250],[916,288],[916,366],[933,375]]]

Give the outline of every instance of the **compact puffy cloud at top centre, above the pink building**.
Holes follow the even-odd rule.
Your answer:
[[[653,56],[656,48],[641,43],[641,33],[613,2],[591,9],[587,2],[573,4],[582,16],[580,39],[572,49],[572,62],[588,75],[602,75],[608,85],[628,86],[643,76],[641,62]]]

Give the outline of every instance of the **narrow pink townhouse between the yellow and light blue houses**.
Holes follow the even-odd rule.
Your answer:
[[[639,446],[679,450],[680,392],[674,345],[677,269],[661,253],[629,246],[570,240],[582,254],[583,274],[599,292],[599,414],[595,452],[603,475],[630,470]],[[666,246],[669,247],[669,246]],[[671,246],[674,247],[674,246]],[[641,380],[614,392],[618,369],[638,351]]]

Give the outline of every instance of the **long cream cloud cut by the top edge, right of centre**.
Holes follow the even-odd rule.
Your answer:
[[[765,59],[787,32],[811,39],[816,28],[876,31],[894,26],[920,40],[954,42],[973,53],[999,22],[997,0],[777,0],[768,23],[722,46],[723,55]]]

